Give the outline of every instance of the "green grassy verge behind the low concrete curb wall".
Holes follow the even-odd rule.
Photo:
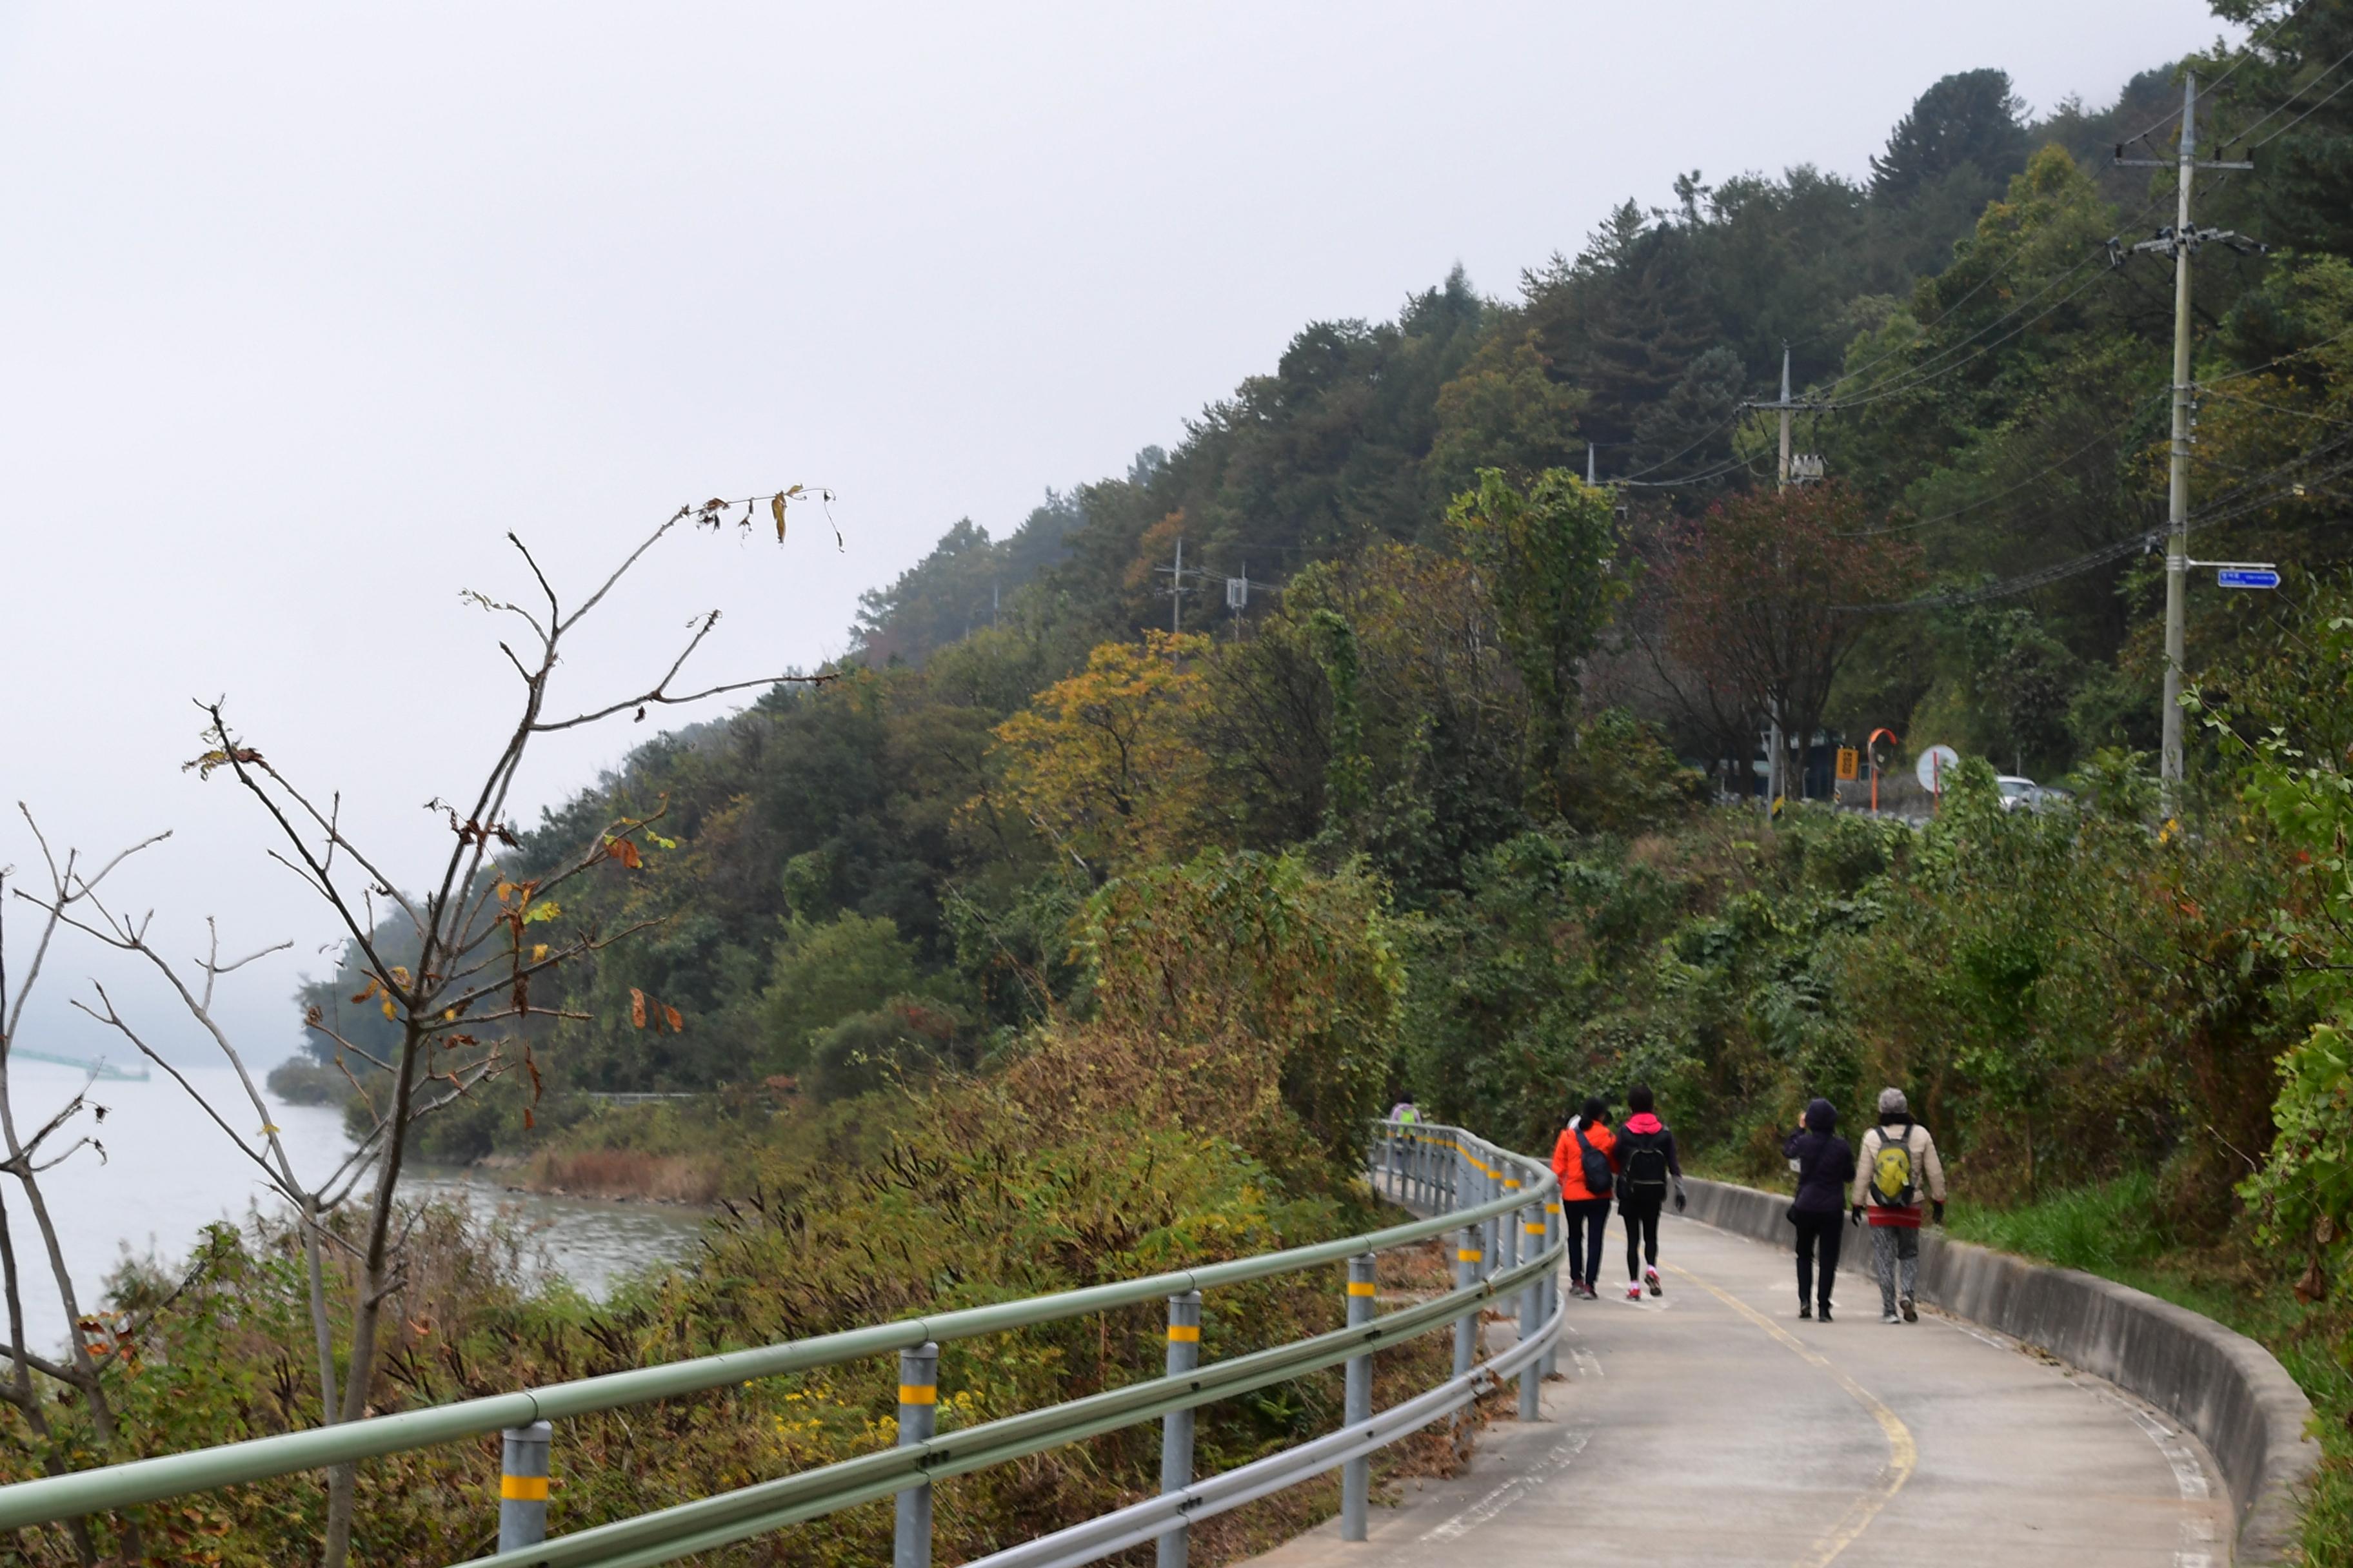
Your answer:
[[[2304,1561],[2353,1563],[2353,1338],[2344,1302],[2301,1302],[2289,1279],[2233,1246],[2174,1234],[2153,1175],[2127,1175],[2019,1208],[1951,1213],[1951,1234],[2099,1274],[2226,1324],[2280,1359],[2313,1401],[2320,1474],[2304,1509]]]

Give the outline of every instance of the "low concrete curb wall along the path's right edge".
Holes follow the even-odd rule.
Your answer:
[[[1689,1182],[1689,1218],[1788,1246],[1788,1199]],[[1868,1272],[1868,1265],[1866,1265]],[[2139,1394],[2195,1432],[2238,1509],[2235,1568],[2301,1561],[2301,1493],[2320,1467],[2313,1406],[2287,1368],[2209,1316],[2113,1279],[1920,1234],[1920,1298]]]

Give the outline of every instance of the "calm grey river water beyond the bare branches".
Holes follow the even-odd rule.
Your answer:
[[[252,1100],[226,1065],[184,1072],[242,1138],[261,1143],[254,1135],[259,1117]],[[82,1086],[82,1077],[75,1067],[12,1063],[19,1133],[31,1135],[47,1121]],[[80,1150],[40,1178],[42,1197],[56,1220],[59,1251],[66,1255],[85,1312],[99,1305],[106,1274],[125,1255],[153,1253],[176,1262],[188,1255],[198,1229],[212,1220],[245,1220],[254,1204],[264,1211],[280,1206],[282,1199],[261,1180],[261,1171],[167,1074],[155,1072],[144,1084],[94,1084],[89,1098],[106,1107],[106,1121],[94,1124],[85,1114],[75,1131],[92,1133],[106,1147],[106,1159]],[[351,1152],[341,1107],[285,1105],[268,1091],[264,1098],[294,1171],[308,1182],[325,1180]],[[47,1147],[64,1147],[64,1135]],[[482,1215],[506,1208],[532,1229],[544,1267],[598,1298],[633,1269],[682,1258],[701,1227],[701,1215],[685,1208],[508,1192],[461,1171],[421,1171],[405,1187],[419,1197],[464,1199]],[[66,1314],[49,1286],[38,1232],[14,1182],[7,1208],[16,1262],[26,1274],[26,1340],[56,1345],[66,1335]]]

